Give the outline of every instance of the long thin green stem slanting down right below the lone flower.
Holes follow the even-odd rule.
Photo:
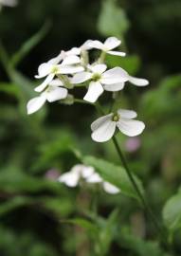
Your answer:
[[[117,140],[116,137],[113,137],[113,143],[114,143],[115,148],[116,148],[116,150],[117,150],[117,152],[118,152],[118,156],[119,156],[119,158],[120,158],[120,160],[121,160],[121,162],[122,162],[122,165],[123,165],[123,167],[125,168],[126,173],[128,174],[128,177],[129,177],[129,179],[130,179],[130,181],[131,181],[131,183],[132,183],[132,185],[133,185],[133,187],[134,187],[134,189],[135,189],[135,191],[136,191],[136,193],[137,193],[137,195],[138,195],[138,197],[139,197],[140,202],[142,203],[142,206],[144,207],[144,209],[145,209],[145,210],[148,212],[148,214],[150,215],[150,218],[152,219],[152,221],[153,221],[153,223],[154,223],[154,227],[155,227],[155,228],[159,231],[159,233],[161,234],[162,240],[164,241],[164,244],[165,244],[166,241],[165,241],[165,239],[164,239],[164,237],[165,237],[164,230],[163,230],[163,228],[160,226],[160,224],[158,223],[157,219],[155,218],[154,213],[153,213],[153,211],[151,210],[151,208],[150,208],[148,202],[147,202],[146,199],[144,198],[142,192],[140,192],[140,190],[139,190],[139,188],[138,188],[138,186],[137,186],[137,184],[136,184],[136,180],[135,180],[135,178],[134,178],[134,175],[132,174],[132,172],[131,172],[131,170],[130,170],[130,168],[129,168],[129,166],[128,166],[127,160],[126,160],[126,158],[124,157],[124,155],[122,154],[122,152],[121,152],[121,150],[120,150],[120,147],[119,147],[119,145],[118,145],[118,140]]]

